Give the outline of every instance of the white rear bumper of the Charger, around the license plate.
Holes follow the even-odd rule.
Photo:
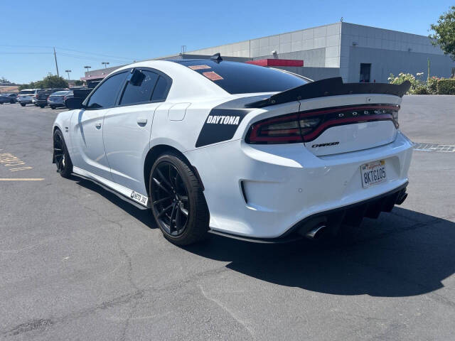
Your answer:
[[[205,186],[213,231],[269,239],[309,217],[402,189],[412,144],[398,132],[385,146],[315,156],[303,144],[252,146],[236,140],[186,156]],[[362,188],[360,166],[378,160],[386,162],[387,180]]]

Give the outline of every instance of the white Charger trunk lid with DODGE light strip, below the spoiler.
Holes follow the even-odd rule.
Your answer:
[[[360,151],[395,141],[400,97],[343,95],[323,102],[328,103],[311,104],[311,107],[320,105],[321,109],[305,110],[306,103],[300,105],[304,145],[314,155]],[[309,124],[305,122],[315,120],[317,124],[306,131],[304,126]]]

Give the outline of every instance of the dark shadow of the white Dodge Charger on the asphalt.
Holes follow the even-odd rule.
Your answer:
[[[73,180],[156,228],[149,210],[90,180]],[[228,261],[228,269],[280,286],[334,295],[414,296],[442,288],[455,273],[455,223],[395,207],[378,220],[365,218],[358,230],[332,243],[256,244],[211,235],[183,249]]]

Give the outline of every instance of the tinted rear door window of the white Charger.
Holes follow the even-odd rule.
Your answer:
[[[128,81],[127,87],[123,92],[122,99],[120,99],[120,105],[144,103],[150,101],[156,80],[158,80],[159,76],[154,72],[146,70],[141,70],[140,72],[143,75],[140,82],[133,84],[132,82]],[[131,77],[131,74],[129,77]]]

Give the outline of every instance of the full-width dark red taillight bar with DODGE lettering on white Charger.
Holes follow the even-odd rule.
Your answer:
[[[294,144],[312,141],[331,126],[364,121],[393,121],[398,128],[395,104],[319,109],[287,114],[256,122],[250,126],[247,144]]]

